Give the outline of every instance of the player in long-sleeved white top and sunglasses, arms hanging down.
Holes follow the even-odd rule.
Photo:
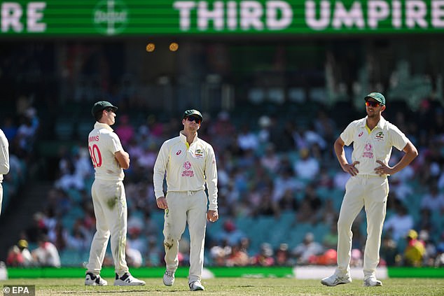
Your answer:
[[[177,254],[179,239],[186,223],[190,230],[190,290],[204,290],[200,283],[204,265],[204,239],[207,220],[216,222],[217,171],[216,157],[211,145],[197,138],[202,122],[197,110],[183,113],[183,130],[173,139],[163,143],[154,165],[154,192],[158,207],[165,210],[165,286],[174,284],[174,272],[179,266]],[[163,180],[167,174],[167,195]],[[208,198],[204,191],[207,184]],[[209,211],[207,212],[207,199]]]

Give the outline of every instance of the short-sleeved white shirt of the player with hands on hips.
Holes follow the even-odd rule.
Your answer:
[[[340,134],[340,138],[346,146],[353,143],[352,161],[359,162],[356,169],[359,175],[379,176],[375,168],[379,167],[376,161],[389,163],[391,147],[403,150],[408,139],[398,127],[381,117],[376,127],[369,133],[366,127],[366,118],[354,120]]]

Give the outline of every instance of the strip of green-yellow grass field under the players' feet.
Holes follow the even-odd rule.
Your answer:
[[[113,284],[112,278],[105,278]],[[382,287],[363,287],[356,280],[336,287],[322,286],[318,280],[289,278],[216,278],[202,280],[205,291],[190,292],[186,278],[176,279],[172,287],[162,284],[162,279],[146,278],[146,286],[92,287],[84,286],[83,278],[77,279],[10,279],[3,285],[35,285],[36,295],[444,295],[443,279],[397,278],[385,279]],[[3,286],[4,287],[4,286]],[[2,288],[3,288],[2,287]],[[11,293],[4,295],[12,295]]]

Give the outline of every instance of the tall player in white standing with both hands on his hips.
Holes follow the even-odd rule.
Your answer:
[[[364,286],[382,286],[375,271],[380,261],[382,225],[384,223],[389,182],[387,176],[401,171],[417,157],[415,146],[381,113],[385,98],[379,92],[365,97],[366,118],[350,123],[335,141],[335,154],[340,166],[351,177],[345,185],[338,219],[338,267],[335,273],[321,283],[336,286],[350,283],[350,255],[352,251],[352,223],[362,207],[367,216],[367,240],[364,250]],[[352,164],[347,162],[344,146],[353,143]],[[393,167],[389,166],[392,146],[405,153]]]

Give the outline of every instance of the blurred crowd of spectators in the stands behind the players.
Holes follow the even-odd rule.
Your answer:
[[[345,126],[336,124],[339,115],[331,109],[314,108],[317,115],[307,125],[297,124],[298,114],[282,118],[259,114],[254,125],[227,111],[204,114],[199,136],[211,143],[216,152],[221,216],[219,226],[208,227],[207,265],[335,264],[335,227],[349,176],[337,164],[333,142]],[[386,118],[412,139],[419,157],[389,179],[391,192],[380,264],[443,266],[443,106],[424,99],[416,113],[408,108],[390,108],[388,104]],[[350,119],[358,118],[356,115]],[[93,124],[91,120],[91,129]],[[32,127],[32,123],[27,126]],[[162,225],[154,219],[161,211],[153,194],[153,165],[163,141],[179,133],[180,120],[163,122],[152,114],[144,122],[135,123],[131,113],[118,112],[113,128],[131,157],[130,169],[125,171],[128,262],[132,266],[162,266]],[[346,153],[350,160],[351,148]],[[401,156],[402,153],[394,150],[392,162]],[[67,251],[88,258],[85,254],[95,232],[90,198],[93,174],[86,139],[84,146],[60,151],[57,178],[47,192],[44,210],[34,213],[34,224],[20,234],[20,241],[9,252],[8,265],[60,266],[60,257]],[[254,233],[237,225],[244,219],[263,218],[278,223],[284,216],[289,219],[282,231],[301,227],[300,239],[285,239],[285,236],[280,241],[268,239],[264,229],[265,239],[257,244]],[[352,229],[353,266],[362,264],[365,225],[365,213],[361,212]],[[314,229],[319,227],[324,231],[315,235]],[[24,255],[28,243],[34,247],[27,252],[31,255]],[[60,253],[60,257],[54,256],[59,260],[39,259],[50,257],[39,254],[53,249],[52,246]],[[188,260],[188,248],[184,235],[179,250],[183,264]],[[111,256],[107,258],[105,265],[112,265]]]

